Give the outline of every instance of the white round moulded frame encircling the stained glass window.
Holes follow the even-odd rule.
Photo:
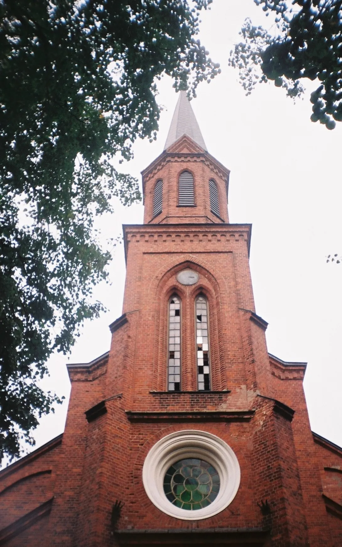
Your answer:
[[[219,473],[220,491],[208,507],[180,509],[169,502],[164,493],[163,481],[168,468],[185,458],[203,459]],[[186,429],[171,433],[152,446],[143,465],[143,484],[151,502],[163,513],[181,520],[208,519],[233,501],[240,485],[240,465],[225,441],[202,430]]]

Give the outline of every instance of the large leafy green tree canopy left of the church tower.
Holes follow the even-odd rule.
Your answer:
[[[140,199],[111,156],[155,136],[162,73],[195,95],[218,72],[195,38],[210,3],[0,0],[0,459],[34,444],[60,402],[37,383],[46,359],[102,310],[94,219]]]

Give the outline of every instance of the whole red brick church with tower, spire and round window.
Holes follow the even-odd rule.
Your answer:
[[[185,92],[142,175],[110,351],[68,365],[63,435],[0,472],[0,545],[340,547],[342,449],[310,430],[305,363],[267,351],[251,225]]]

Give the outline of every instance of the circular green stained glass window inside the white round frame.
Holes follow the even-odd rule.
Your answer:
[[[164,492],[176,507],[202,509],[210,505],[220,490],[215,467],[202,459],[181,459],[169,467],[164,477]]]

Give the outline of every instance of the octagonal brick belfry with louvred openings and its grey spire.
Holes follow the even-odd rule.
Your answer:
[[[229,170],[208,153],[185,91],[162,154],[141,174],[144,224],[229,222]]]

